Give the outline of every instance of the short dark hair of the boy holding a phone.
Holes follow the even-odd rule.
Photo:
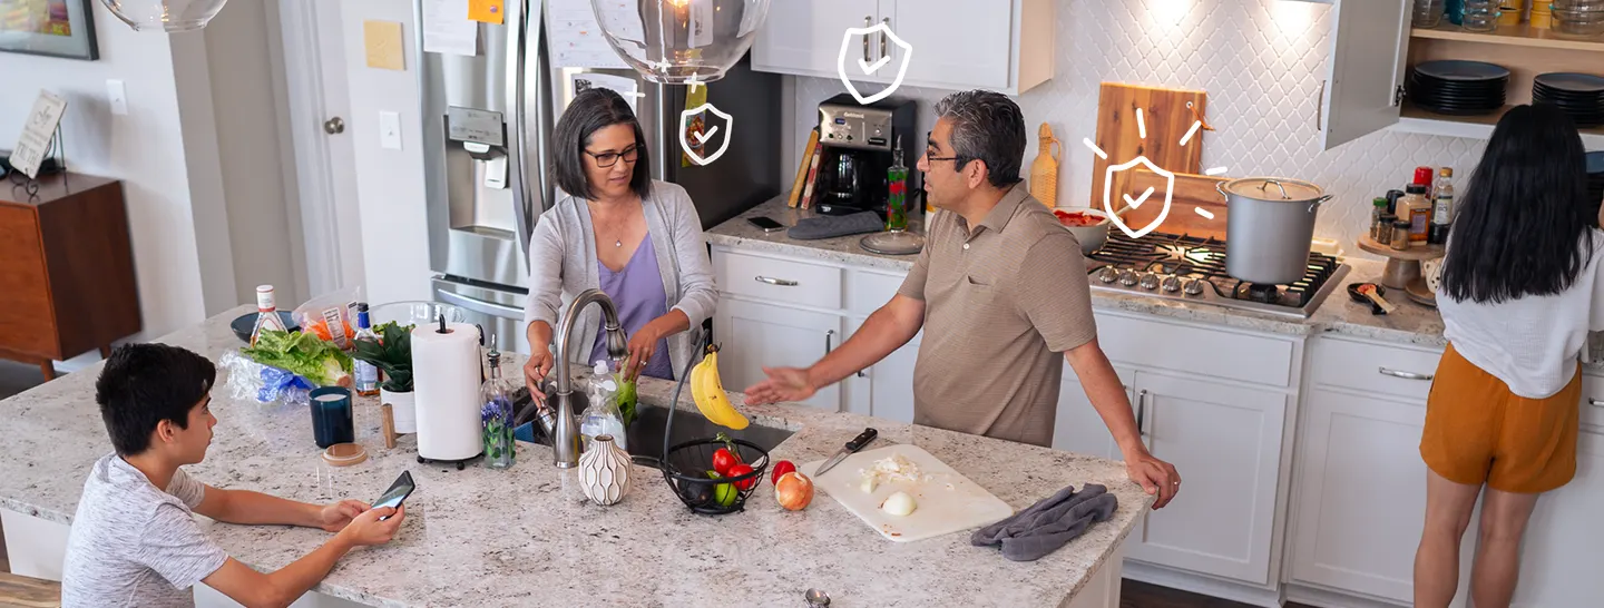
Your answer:
[[[160,343],[130,343],[106,359],[95,380],[95,403],[119,456],[151,448],[162,420],[188,428],[189,409],[217,380],[217,366],[189,350]]]

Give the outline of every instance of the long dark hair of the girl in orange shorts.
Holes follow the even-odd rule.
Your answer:
[[[1460,191],[1442,289],[1453,300],[1505,302],[1566,290],[1593,258],[1586,152],[1554,106],[1517,106]]]

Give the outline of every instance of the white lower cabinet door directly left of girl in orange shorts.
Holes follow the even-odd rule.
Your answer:
[[[1293,489],[1294,581],[1408,603],[1426,513],[1426,406],[1309,391]],[[1376,497],[1386,509],[1376,509]],[[1471,547],[1461,550],[1464,605]]]

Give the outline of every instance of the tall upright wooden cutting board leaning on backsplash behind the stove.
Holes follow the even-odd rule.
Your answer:
[[[1187,107],[1187,103],[1192,107]],[[1110,165],[1120,165],[1132,160],[1139,156],[1145,156],[1158,168],[1174,172],[1174,173],[1203,173],[1203,132],[1198,128],[1197,133],[1187,140],[1182,146],[1181,140],[1192,128],[1192,124],[1200,117],[1205,117],[1205,109],[1208,106],[1208,93],[1177,90],[1177,88],[1158,88],[1158,87],[1140,87],[1140,85],[1123,85],[1105,82],[1097,96],[1097,136],[1092,140],[1099,149],[1108,154],[1107,159],[1092,154],[1092,191],[1088,202],[1089,207],[1102,209],[1104,205],[1104,176]],[[1137,109],[1142,111],[1140,124],[1137,120]],[[1142,136],[1145,125],[1145,138]],[[1140,165],[1139,165],[1140,167]],[[1120,196],[1131,194],[1132,197],[1140,194],[1142,189],[1134,188],[1129,181],[1132,172],[1115,173],[1113,184],[1113,202],[1115,209],[1120,207]],[[1163,193],[1155,193],[1156,199],[1148,199],[1155,202],[1153,205],[1140,205],[1121,215],[1124,223],[1132,229],[1152,223],[1158,217],[1161,202],[1165,201]],[[1171,212],[1174,215],[1174,212]],[[1166,225],[1168,225],[1166,218]],[[1169,229],[1166,229],[1169,231]]]

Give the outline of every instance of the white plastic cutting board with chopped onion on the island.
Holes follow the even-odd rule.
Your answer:
[[[873,494],[865,494],[861,488],[863,478],[858,470],[869,468],[874,465],[874,460],[893,454],[901,454],[917,465],[921,476],[929,475],[930,481],[882,481],[874,488]],[[847,507],[847,510],[863,520],[863,523],[868,523],[869,528],[874,528],[881,536],[895,542],[924,541],[961,529],[980,528],[1014,515],[1014,507],[1009,507],[1007,502],[1003,502],[919,446],[895,444],[861,451],[840,460],[840,464],[824,472],[824,475],[813,475],[823,464],[824,460],[808,462],[802,465],[800,472],[813,480],[816,491],[823,489],[836,502],[840,502],[842,507]],[[948,484],[951,484],[951,489],[948,489]],[[897,491],[913,496],[917,505],[913,513],[897,517],[881,510],[881,502]]]

